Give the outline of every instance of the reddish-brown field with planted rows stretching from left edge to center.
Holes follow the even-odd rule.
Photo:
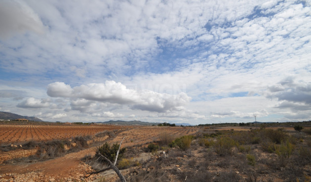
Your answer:
[[[121,125],[0,125],[0,144],[23,143],[27,141],[49,141],[54,139],[69,139],[77,136],[94,136],[102,131],[122,130],[112,142],[120,142],[125,136],[124,146],[133,146],[153,142],[161,132],[170,133],[176,137],[194,134],[195,128],[156,127],[156,126],[121,126]]]

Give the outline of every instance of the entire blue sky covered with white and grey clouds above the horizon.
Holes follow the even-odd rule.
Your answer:
[[[311,120],[311,1],[0,0],[0,111]]]

